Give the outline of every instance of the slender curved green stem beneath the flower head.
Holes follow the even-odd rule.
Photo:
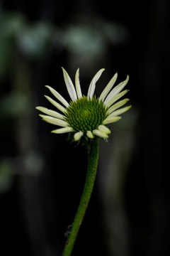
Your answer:
[[[84,191],[81,196],[79,208],[75,215],[74,222],[72,224],[72,230],[71,230],[71,233],[69,234],[62,256],[70,256],[72,253],[74,242],[77,238],[79,228],[84,219],[86,208],[89,205],[91,193],[94,188],[94,181],[96,178],[97,166],[98,166],[98,138],[94,139],[94,141],[91,143],[91,149],[88,154],[88,166],[87,166],[86,181],[84,184]]]

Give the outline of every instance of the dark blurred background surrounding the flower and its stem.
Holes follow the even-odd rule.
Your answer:
[[[98,175],[73,255],[169,255],[169,0],[0,1],[1,255],[60,256],[86,176],[86,147],[50,134],[35,106],[61,67],[84,94],[130,75],[132,109],[101,140]],[[117,83],[118,83],[117,82]]]

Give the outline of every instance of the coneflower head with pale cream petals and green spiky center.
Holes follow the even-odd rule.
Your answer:
[[[101,96],[96,98],[96,95],[94,95],[96,82],[101,77],[104,68],[99,70],[91,80],[87,96],[82,95],[81,92],[79,69],[75,75],[75,87],[71,78],[69,78],[67,71],[64,70],[64,68],[62,68],[62,71],[67,91],[72,100],[67,102],[56,90],[46,85],[50,92],[52,92],[52,95],[54,95],[60,103],[52,100],[51,97],[45,97],[52,103],[52,105],[57,107],[57,110],[60,110],[60,112],[48,110],[45,107],[36,107],[37,110],[47,114],[40,114],[40,117],[50,124],[62,127],[53,130],[53,133],[72,133],[74,135],[74,141],[79,141],[81,137],[94,139],[96,136],[107,139],[111,130],[106,125],[120,120],[120,114],[128,111],[131,107],[122,107],[129,101],[129,99],[118,101],[120,97],[123,97],[128,92],[128,90],[123,90],[123,88],[127,85],[129,77],[127,76],[125,81],[120,82],[119,85],[113,87],[115,80],[118,77],[118,74],[115,73],[101,93]]]

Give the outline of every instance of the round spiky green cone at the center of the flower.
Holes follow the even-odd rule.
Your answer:
[[[103,102],[96,97],[87,99],[86,96],[70,102],[67,107],[66,121],[75,132],[87,132],[98,129],[98,125],[106,119],[106,107]]]

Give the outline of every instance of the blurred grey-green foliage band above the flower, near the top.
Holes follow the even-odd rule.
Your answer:
[[[51,50],[65,48],[81,60],[106,53],[108,44],[128,38],[121,25],[94,18],[81,18],[79,23],[57,28],[45,21],[29,22],[21,13],[0,12],[0,80],[10,70],[16,50],[31,60],[42,60]]]

